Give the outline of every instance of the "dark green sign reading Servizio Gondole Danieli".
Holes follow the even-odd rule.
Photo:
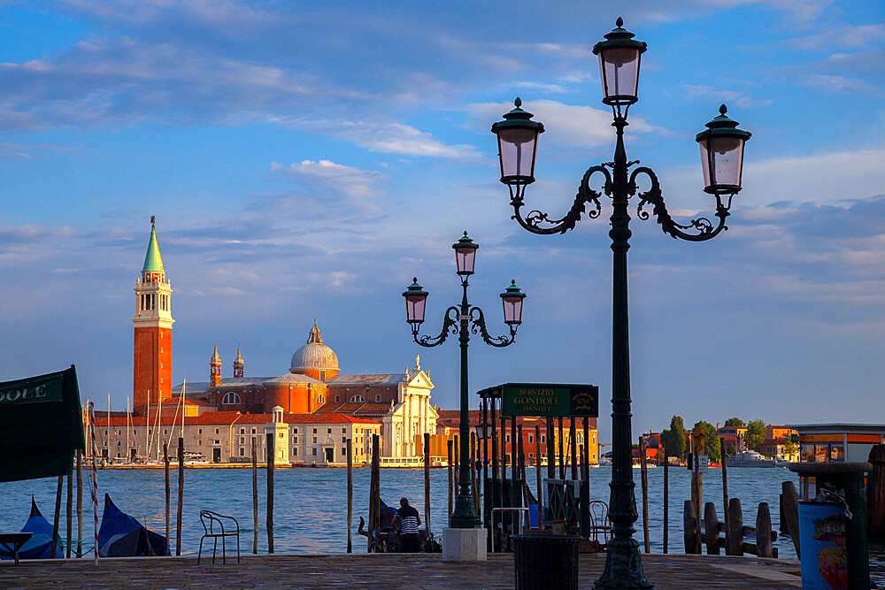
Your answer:
[[[599,416],[595,385],[506,383],[501,397],[505,416]]]

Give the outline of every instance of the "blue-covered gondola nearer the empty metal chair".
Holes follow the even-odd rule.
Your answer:
[[[144,528],[135,518],[117,508],[104,494],[104,514],[98,529],[98,555],[101,557],[169,556],[169,541]]]

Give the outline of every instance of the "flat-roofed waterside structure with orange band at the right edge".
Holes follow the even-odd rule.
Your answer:
[[[881,424],[788,425],[799,437],[800,460],[806,463],[866,461],[873,445],[885,443]]]

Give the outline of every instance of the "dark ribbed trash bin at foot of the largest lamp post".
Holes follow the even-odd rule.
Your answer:
[[[578,538],[551,534],[511,537],[520,590],[578,587]]]

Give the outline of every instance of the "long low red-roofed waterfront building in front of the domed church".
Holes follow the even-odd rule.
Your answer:
[[[146,416],[96,417],[96,443],[100,456],[117,463],[162,461],[163,444],[177,457],[178,439],[184,439],[185,457],[207,463],[250,463],[252,444],[264,463],[266,434],[273,433],[280,465],[330,465],[347,463],[347,439],[353,440],[353,460],[366,463],[372,456],[372,435],[381,423],[346,414],[288,414],[274,408],[270,414],[207,410],[199,415],[164,413]]]

